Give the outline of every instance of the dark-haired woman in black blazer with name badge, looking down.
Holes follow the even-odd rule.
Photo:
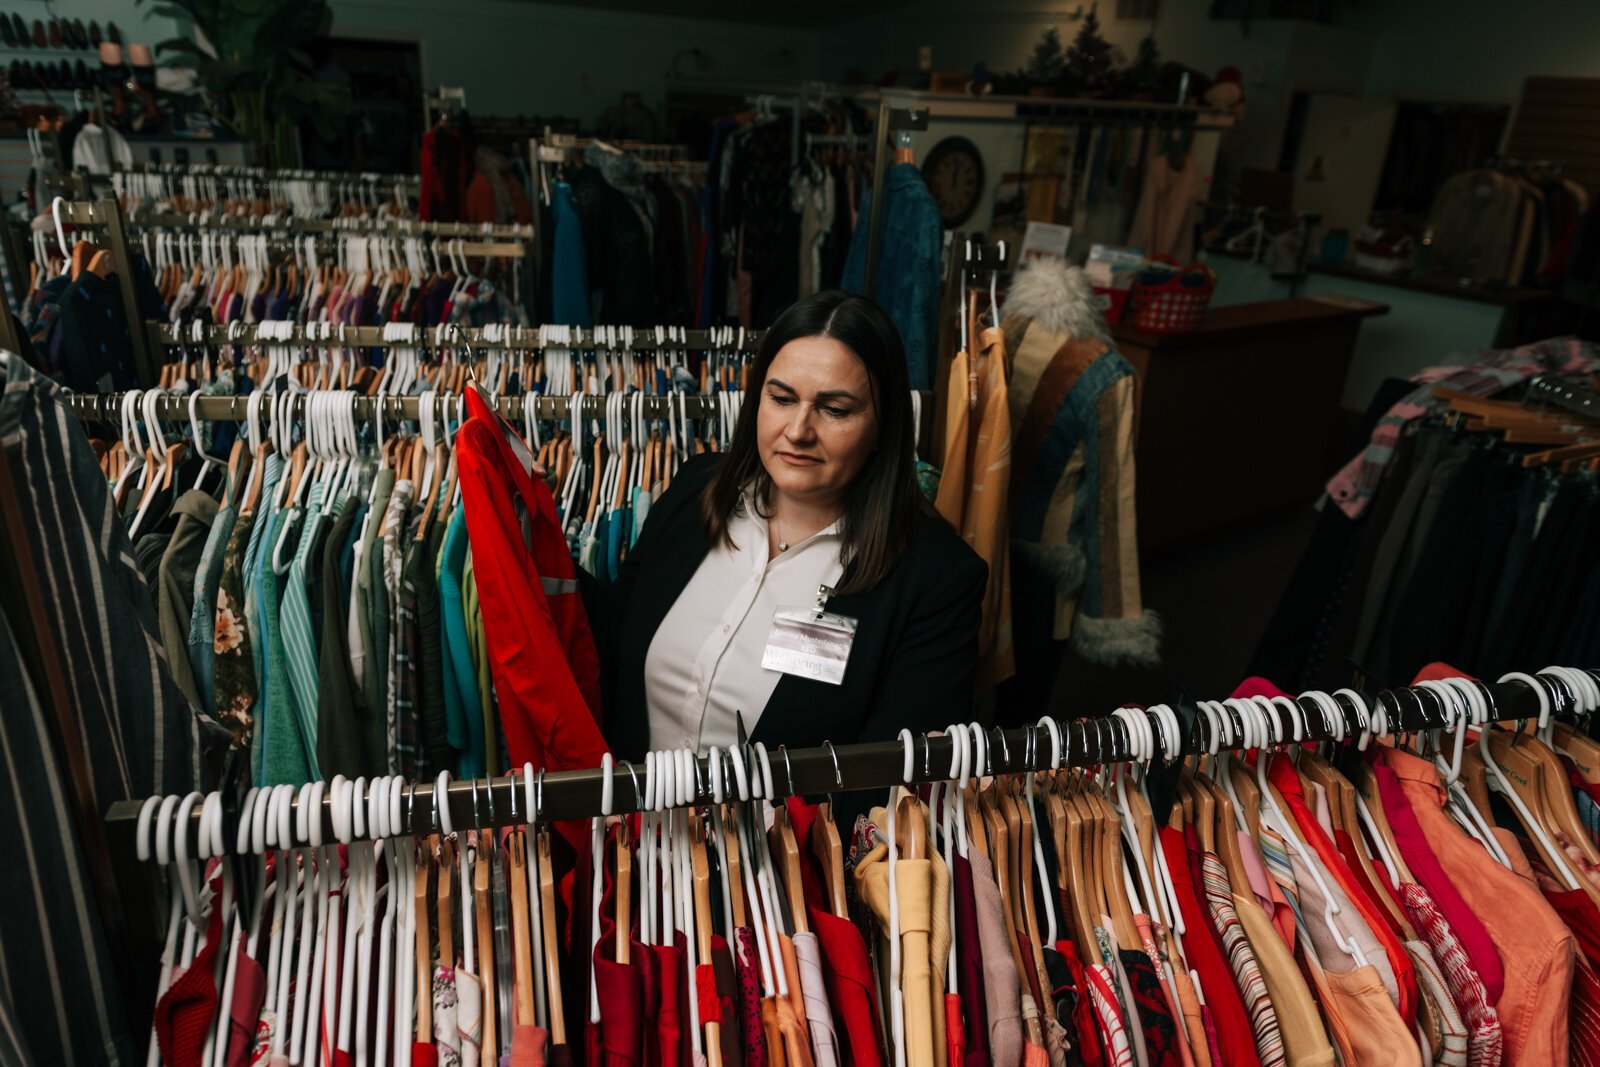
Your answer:
[[[779,315],[733,443],[674,475],[613,585],[586,582],[613,752],[728,747],[736,713],[797,747],[971,718],[987,566],[915,461],[888,315],[840,291]]]

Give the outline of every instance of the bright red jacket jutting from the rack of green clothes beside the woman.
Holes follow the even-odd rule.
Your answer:
[[[512,766],[600,766],[600,657],[555,498],[514,451],[510,427],[470,389],[467,411],[456,470]]]

